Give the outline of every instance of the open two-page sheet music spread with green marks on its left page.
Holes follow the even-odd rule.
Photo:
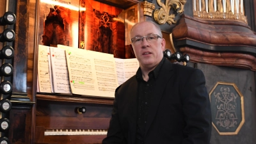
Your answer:
[[[118,86],[113,56],[84,49],[66,51],[72,93],[115,97]]]

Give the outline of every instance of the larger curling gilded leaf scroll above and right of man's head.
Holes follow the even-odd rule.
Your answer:
[[[174,8],[177,13],[184,12],[184,5],[186,4],[186,0],[166,0],[165,4],[161,2],[161,0],[157,0],[157,4],[161,6],[160,10],[155,10],[154,19],[158,24],[164,24],[167,22],[168,24],[175,24],[176,20],[174,20],[175,15],[170,14],[171,8]]]

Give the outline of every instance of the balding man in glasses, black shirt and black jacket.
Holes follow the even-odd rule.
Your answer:
[[[136,76],[116,88],[103,144],[208,144],[211,106],[201,70],[163,57],[165,40],[154,22],[135,24]]]

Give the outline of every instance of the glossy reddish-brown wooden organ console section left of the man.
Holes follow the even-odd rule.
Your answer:
[[[135,5],[138,10],[139,1],[1,3],[17,13],[10,143],[101,143],[108,130],[113,98],[38,92],[38,44],[68,45],[111,53],[115,58],[132,58],[125,50],[124,17],[126,8]],[[103,39],[108,36],[110,40]]]

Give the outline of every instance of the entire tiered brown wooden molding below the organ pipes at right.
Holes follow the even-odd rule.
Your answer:
[[[182,15],[172,31],[175,47],[191,61],[256,71],[256,33],[243,22]]]

